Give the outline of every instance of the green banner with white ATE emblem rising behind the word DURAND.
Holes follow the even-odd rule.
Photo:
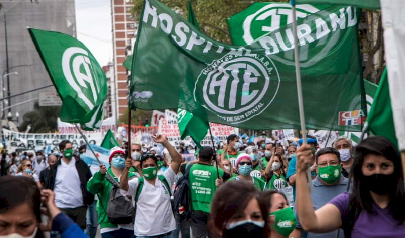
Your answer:
[[[330,5],[297,5],[297,18],[305,18],[327,7]],[[232,43],[237,46],[251,44],[260,36],[292,22],[293,12],[289,3],[254,3],[228,18]]]

